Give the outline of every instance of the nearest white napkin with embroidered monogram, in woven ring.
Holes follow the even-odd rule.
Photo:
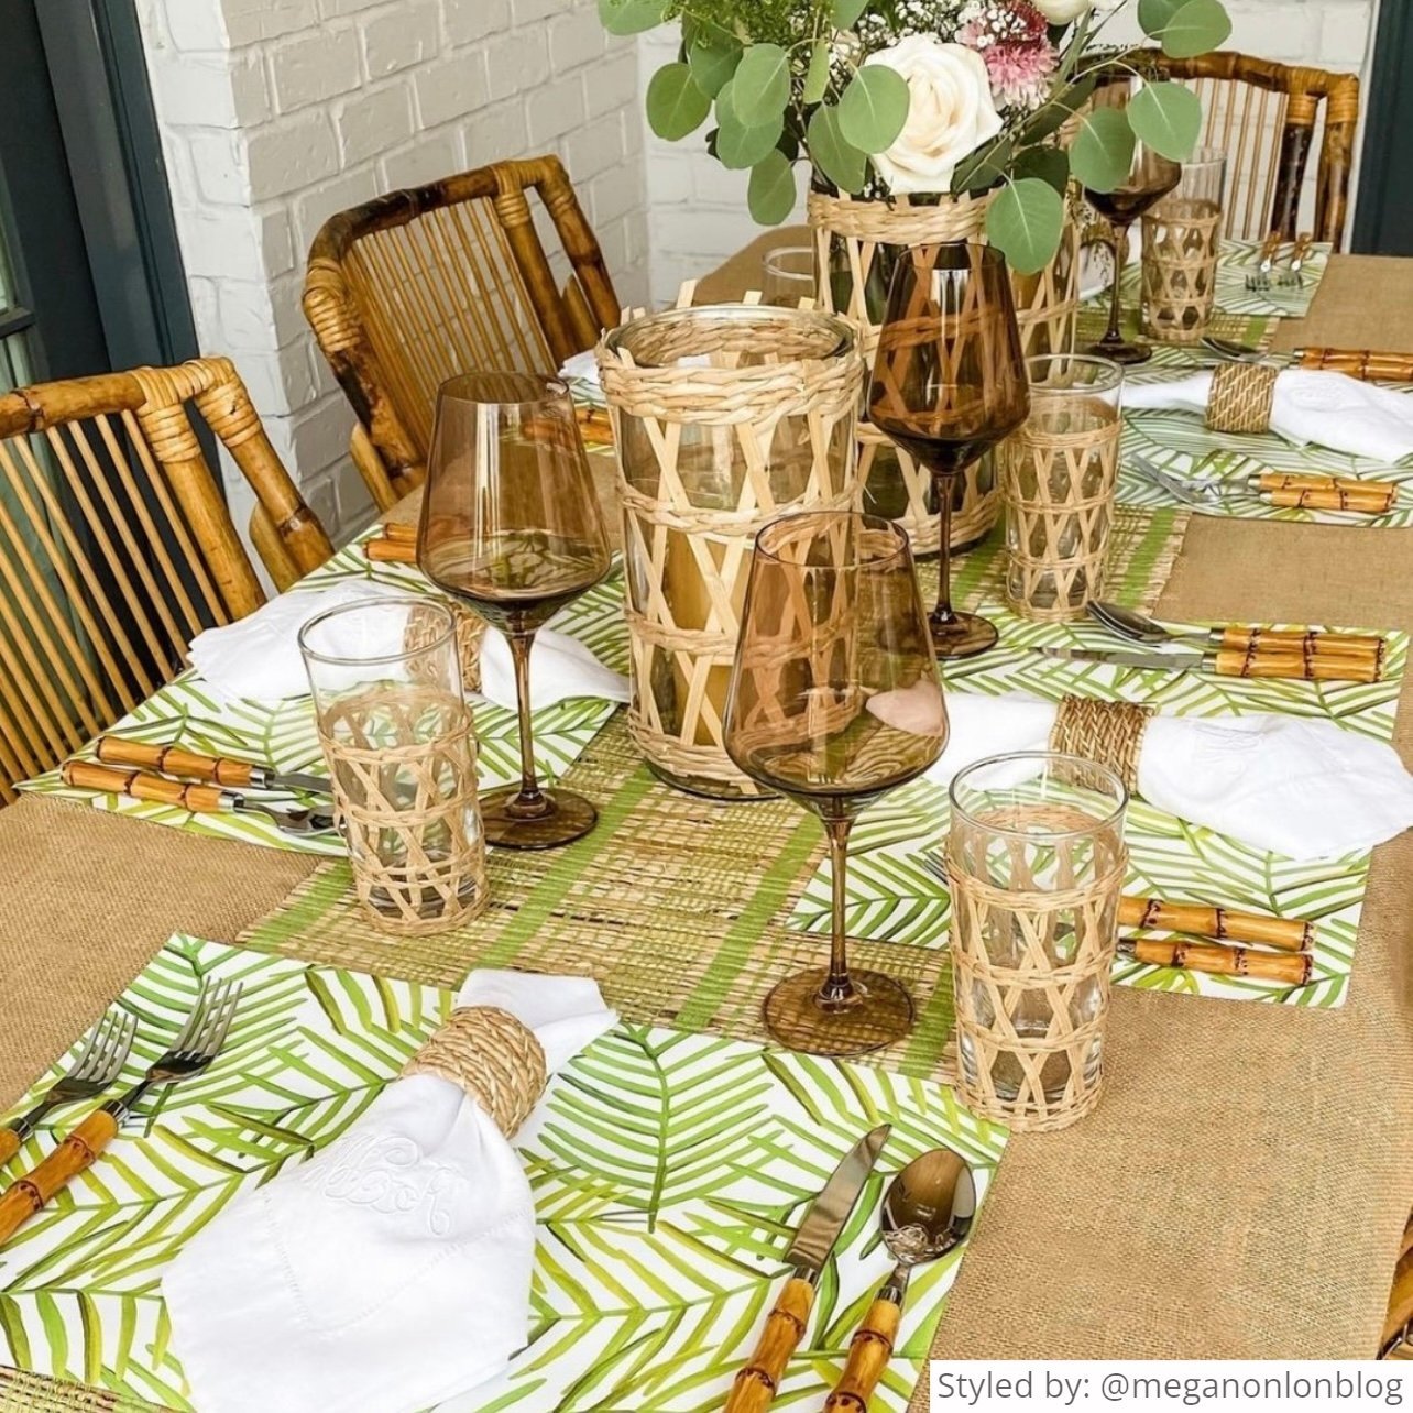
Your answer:
[[[473,972],[458,1000],[528,1026],[550,1074],[617,1020],[581,976]],[[414,1413],[526,1344],[533,1259],[510,1143],[458,1085],[414,1074],[235,1198],[172,1262],[162,1297],[202,1413]]]

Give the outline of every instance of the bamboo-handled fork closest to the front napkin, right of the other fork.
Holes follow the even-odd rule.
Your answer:
[[[209,1067],[220,1053],[240,1000],[240,986],[219,982],[203,991],[171,1048],[153,1061],[140,1084],[95,1109],[37,1169],[0,1194],[0,1243],[8,1241],[45,1202],[97,1161],[123,1119],[153,1085],[177,1084]]]

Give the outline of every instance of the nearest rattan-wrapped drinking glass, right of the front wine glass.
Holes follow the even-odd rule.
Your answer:
[[[1034,752],[969,766],[951,801],[958,1091],[1013,1129],[1067,1128],[1104,1084],[1128,791]]]

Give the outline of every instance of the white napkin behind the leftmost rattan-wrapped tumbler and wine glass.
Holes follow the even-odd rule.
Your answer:
[[[406,599],[406,591],[359,579],[324,589],[292,591],[271,599],[249,617],[226,627],[198,634],[188,653],[192,667],[215,697],[225,701],[280,701],[304,697],[309,678],[300,654],[300,629],[317,613],[356,599]],[[357,654],[397,653],[401,627],[387,617],[387,643],[349,644]],[[332,646],[332,644],[329,644]],[[495,629],[487,629],[480,647],[480,691],[497,706],[514,709],[516,674],[510,647]],[[530,653],[530,704],[552,706],[569,697],[598,697],[626,702],[629,682],[622,673],[605,667],[582,643],[564,633],[541,629]]]

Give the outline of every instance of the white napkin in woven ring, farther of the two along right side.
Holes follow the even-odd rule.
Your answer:
[[[1212,370],[1164,383],[1130,383],[1123,410],[1204,413]],[[1396,462],[1413,455],[1413,397],[1345,373],[1286,369],[1276,379],[1270,430],[1303,447],[1314,442],[1369,461]]]

